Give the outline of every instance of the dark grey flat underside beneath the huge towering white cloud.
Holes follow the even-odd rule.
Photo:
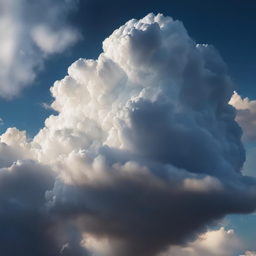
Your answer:
[[[137,171],[132,164],[126,164],[126,168],[125,174],[121,173],[125,172],[122,166],[119,174],[107,170],[113,179],[110,183],[76,187],[56,184],[55,198],[48,205],[50,211],[56,216],[77,218],[77,225],[85,233],[107,236],[113,245],[119,241],[115,255],[131,256],[157,255],[168,245],[185,245],[206,231],[206,223],[214,224],[227,213],[255,209],[255,191],[248,192],[239,182],[233,187],[210,189],[214,183],[210,181],[207,189],[200,191],[186,189],[182,182],[172,180],[175,171],[168,181],[141,174],[140,166]]]

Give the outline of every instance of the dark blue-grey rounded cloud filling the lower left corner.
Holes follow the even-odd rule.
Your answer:
[[[0,253],[13,255],[87,256],[72,223],[57,221],[44,209],[45,192],[56,173],[32,160],[0,169]],[[62,250],[63,245],[69,247]],[[62,251],[61,251],[62,250]]]

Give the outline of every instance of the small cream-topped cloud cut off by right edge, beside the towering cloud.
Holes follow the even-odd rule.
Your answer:
[[[229,104],[237,109],[236,121],[243,128],[243,139],[255,141],[256,139],[256,101],[242,97],[234,91]]]

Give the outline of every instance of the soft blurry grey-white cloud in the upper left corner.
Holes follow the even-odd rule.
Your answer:
[[[34,81],[45,58],[81,38],[66,22],[77,2],[0,0],[0,97],[18,95]]]

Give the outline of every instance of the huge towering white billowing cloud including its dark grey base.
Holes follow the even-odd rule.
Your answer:
[[[24,199],[34,186],[7,194],[21,205],[17,216],[27,216],[23,205],[34,216],[6,222],[4,232],[26,234],[20,252],[156,256],[188,246],[226,214],[255,211],[227,67],[182,22],[153,13],[132,19],[104,40],[97,60],[79,59],[68,74],[50,89],[59,114],[32,141],[16,128],[1,136],[1,153],[11,156],[0,171],[14,158],[33,159],[35,172],[47,166],[56,177],[52,186],[35,180],[40,207]],[[232,247],[232,231],[219,232]],[[4,255],[21,246],[18,238]]]

